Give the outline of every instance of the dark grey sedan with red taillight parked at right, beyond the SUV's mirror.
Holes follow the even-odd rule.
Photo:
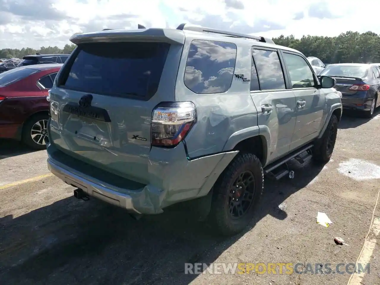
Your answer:
[[[380,67],[376,64],[330,64],[318,75],[336,79],[335,88],[342,92],[343,108],[360,110],[366,117],[372,117],[380,106]]]

